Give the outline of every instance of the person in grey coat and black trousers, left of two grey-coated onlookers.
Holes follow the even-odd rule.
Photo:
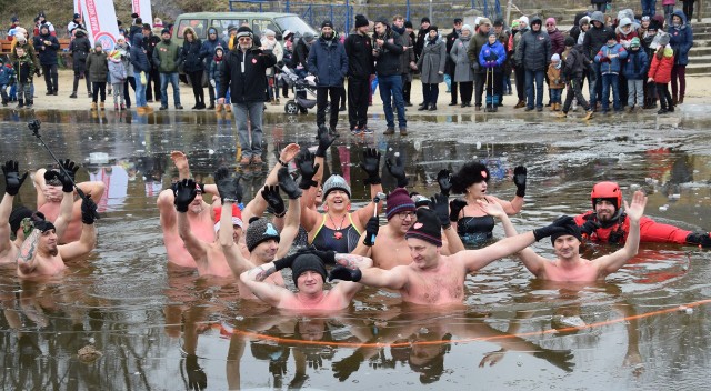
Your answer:
[[[422,47],[422,54],[418,60],[418,69],[422,80],[422,96],[424,102],[418,110],[437,110],[439,97],[439,83],[444,81],[444,67],[447,60],[447,44],[440,38],[437,26],[430,26],[428,40]]]

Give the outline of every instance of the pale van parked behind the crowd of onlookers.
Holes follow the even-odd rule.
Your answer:
[[[214,27],[218,29],[220,39],[224,40],[228,36],[227,29],[230,24],[240,27],[248,23],[252,31],[262,36],[264,30],[270,29],[277,33],[277,39],[281,41],[281,34],[289,30],[297,37],[303,36],[304,32],[311,31],[318,36],[317,31],[309,26],[303,19],[294,13],[281,12],[192,12],[180,14],[176,19],[173,26],[172,39],[182,46],[183,31],[187,27],[196,30],[196,34],[201,40],[208,38],[208,29]]]

